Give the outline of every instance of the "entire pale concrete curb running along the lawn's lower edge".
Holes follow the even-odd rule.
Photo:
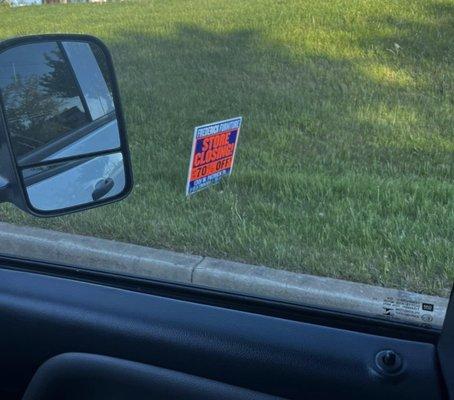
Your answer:
[[[0,222],[0,253],[441,328],[448,299]],[[431,311],[432,310],[432,311]]]

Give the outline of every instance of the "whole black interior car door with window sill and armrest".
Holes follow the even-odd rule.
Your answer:
[[[439,332],[4,256],[0,274],[3,398],[447,398]]]

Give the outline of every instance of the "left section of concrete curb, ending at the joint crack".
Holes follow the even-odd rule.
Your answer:
[[[0,222],[0,253],[191,283],[203,257]]]

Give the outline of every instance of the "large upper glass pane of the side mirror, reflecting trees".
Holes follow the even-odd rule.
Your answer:
[[[18,165],[120,147],[102,49],[81,41],[22,44],[0,54],[0,94]]]

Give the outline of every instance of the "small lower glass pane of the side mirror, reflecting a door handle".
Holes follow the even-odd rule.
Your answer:
[[[25,168],[22,177],[30,204],[44,212],[108,200],[126,185],[120,152]]]

